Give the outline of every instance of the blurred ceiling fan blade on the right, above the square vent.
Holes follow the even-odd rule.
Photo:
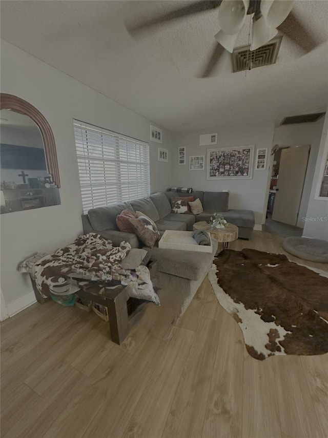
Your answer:
[[[295,14],[293,14],[293,11],[277,29],[294,41],[305,53],[311,52],[311,50],[320,44],[316,41],[315,37],[304,28]]]

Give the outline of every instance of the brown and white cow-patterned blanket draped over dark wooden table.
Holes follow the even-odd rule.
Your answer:
[[[132,285],[131,296],[146,299],[159,305],[153,290],[149,270],[138,266],[135,270],[121,268],[121,261],[131,250],[128,242],[113,246],[96,233],[79,236],[73,243],[46,255],[32,266],[32,278],[40,294],[46,298],[50,292],[74,293],[86,282],[100,286]]]

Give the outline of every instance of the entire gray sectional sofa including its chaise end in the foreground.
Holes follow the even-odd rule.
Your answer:
[[[143,244],[135,234],[122,233],[116,225],[116,216],[129,208],[140,211],[156,222],[158,230],[192,231],[195,221],[208,220],[215,212],[221,212],[229,222],[239,227],[239,237],[250,238],[254,227],[254,213],[245,210],[228,210],[228,192],[192,192],[199,198],[204,212],[199,215],[171,213],[170,198],[190,196],[176,192],[159,192],[147,198],[124,203],[107,205],[89,210],[82,216],[85,233],[99,233],[112,240],[118,246],[122,240],[132,247]],[[212,239],[212,253],[194,251],[166,250],[154,247],[150,254],[150,275],[156,282],[163,313],[170,318],[172,325],[177,325],[189,303],[193,299],[203,279],[208,274],[218,243]],[[142,304],[144,306],[144,304]],[[127,312],[123,308],[121,312]],[[126,316],[126,315],[125,315]]]

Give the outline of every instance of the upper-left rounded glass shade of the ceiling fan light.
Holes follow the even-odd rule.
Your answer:
[[[249,0],[223,0],[219,7],[219,26],[229,35],[242,28],[249,7]]]

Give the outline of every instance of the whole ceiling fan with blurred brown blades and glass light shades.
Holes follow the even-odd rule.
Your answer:
[[[201,78],[207,78],[224,50],[233,52],[238,33],[244,25],[247,15],[253,15],[251,51],[272,40],[278,30],[288,36],[303,51],[313,50],[318,42],[293,14],[292,8],[292,0],[202,0],[167,14],[156,16],[135,26],[127,26],[127,29],[131,35],[137,35],[171,20],[218,9],[219,31],[214,35],[216,44],[200,74]]]

